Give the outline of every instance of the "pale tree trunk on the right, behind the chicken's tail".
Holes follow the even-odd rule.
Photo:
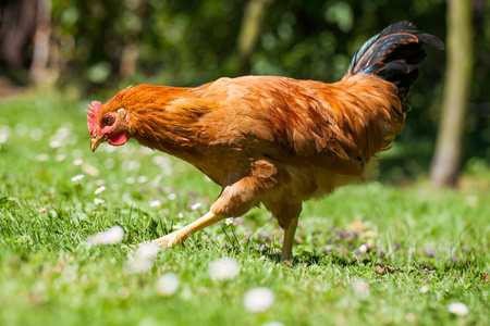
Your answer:
[[[448,0],[448,79],[430,171],[436,187],[456,187],[473,70],[471,1]]]

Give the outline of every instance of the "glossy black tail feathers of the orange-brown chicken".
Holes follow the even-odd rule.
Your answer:
[[[354,55],[346,77],[377,75],[392,82],[404,100],[418,77],[417,66],[426,59],[422,45],[444,49],[436,36],[417,30],[409,22],[399,22],[367,40]]]

